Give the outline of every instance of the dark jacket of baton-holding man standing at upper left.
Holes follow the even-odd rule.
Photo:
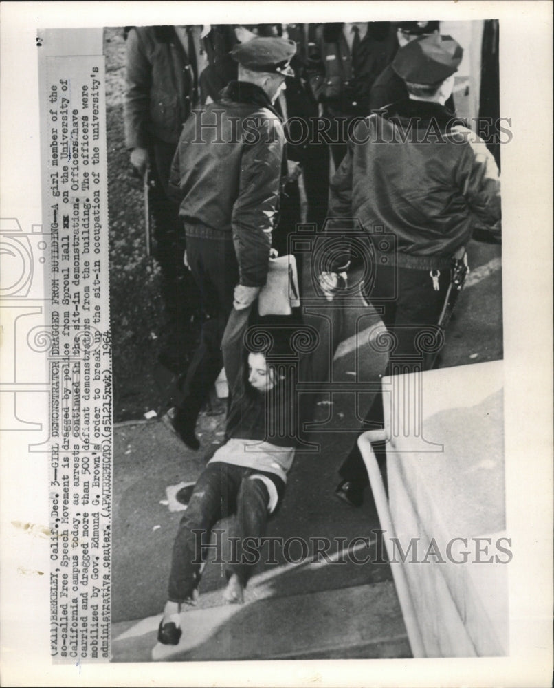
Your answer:
[[[192,34],[198,54],[203,50],[200,30],[195,26]],[[126,147],[147,148],[152,137],[176,144],[190,109],[198,104],[198,94],[175,27],[133,27],[126,51]]]

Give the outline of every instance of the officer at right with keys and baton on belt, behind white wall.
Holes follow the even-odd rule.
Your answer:
[[[424,367],[420,335],[436,327],[454,257],[463,254],[473,231],[500,234],[496,162],[445,108],[462,55],[456,41],[439,34],[401,48],[392,69],[408,98],[357,123],[331,180],[329,215],[359,218],[376,239],[367,296],[395,341],[391,374],[395,359],[408,362],[403,372]],[[372,234],[376,226],[394,240]],[[382,413],[377,395],[366,420],[382,424]],[[384,447],[376,453],[382,459]],[[339,472],[337,496],[359,506],[368,478],[357,445]]]

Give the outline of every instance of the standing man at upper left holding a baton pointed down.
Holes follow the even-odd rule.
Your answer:
[[[126,34],[126,147],[141,177],[149,168],[155,258],[169,321],[160,360],[177,373],[184,368],[184,347],[190,344],[186,323],[199,306],[194,283],[183,266],[179,206],[168,195],[168,183],[181,127],[191,108],[199,105],[198,79],[207,63],[201,30],[199,25],[135,26]]]

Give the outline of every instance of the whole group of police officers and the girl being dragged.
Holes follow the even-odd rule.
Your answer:
[[[387,372],[422,369],[432,359],[420,335],[452,302],[467,242],[476,230],[500,235],[500,180],[485,142],[454,112],[463,48],[438,21],[142,27],[126,40],[126,143],[131,164],[153,178],[166,308],[177,328],[191,299],[206,314],[168,412],[190,449],[222,365],[229,387],[226,442],[199,477],[173,548],[158,639],[177,644],[182,605],[199,584],[195,533],[206,546],[215,522],[234,513],[239,543],[263,535],[285,491],[298,418],[311,411],[295,408],[298,369],[278,363],[289,329],[256,309],[272,251],[294,253],[301,222],[323,235],[338,224],[342,250],[317,266],[298,255],[300,276],[314,275],[332,300],[346,293],[359,259],[352,237],[363,234],[364,297],[393,342]],[[184,288],[191,274],[194,290]],[[300,288],[302,298],[302,279]],[[287,323],[302,331],[301,309]],[[263,327],[274,346],[253,346],[249,327]],[[329,363],[311,352],[295,365],[318,380]],[[366,420],[382,427],[380,394]],[[382,462],[384,448],[375,453]],[[357,444],[339,472],[337,497],[359,506],[368,480]],[[231,602],[251,574],[240,552],[236,561]]]

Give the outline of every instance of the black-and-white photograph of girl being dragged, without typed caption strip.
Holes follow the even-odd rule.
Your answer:
[[[498,36],[104,30],[114,661],[509,653]]]

